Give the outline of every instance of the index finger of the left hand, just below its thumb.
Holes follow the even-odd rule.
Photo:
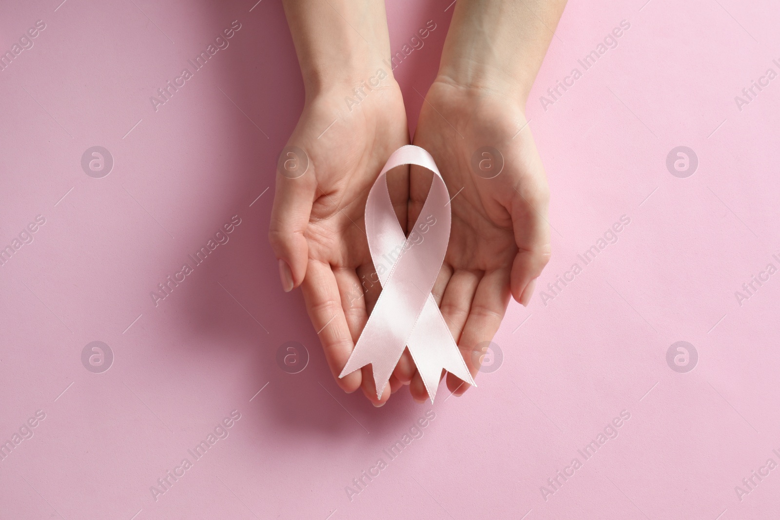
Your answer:
[[[349,331],[339,285],[331,266],[319,260],[311,260],[301,288],[309,319],[320,337],[333,378],[343,391],[356,391],[362,379],[360,370],[339,378],[339,373],[346,366],[347,359],[355,348],[355,342]]]

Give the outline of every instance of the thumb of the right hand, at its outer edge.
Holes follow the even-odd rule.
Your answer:
[[[533,189],[527,194],[517,193],[512,202],[512,228],[514,228],[517,255],[512,262],[512,296],[527,306],[533,295],[531,283],[541,274],[550,260],[550,225],[548,224],[548,200],[546,187]]]

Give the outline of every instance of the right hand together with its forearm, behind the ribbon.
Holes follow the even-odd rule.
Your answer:
[[[452,232],[433,294],[463,359],[477,375],[509,295],[527,305],[550,257],[548,187],[525,117],[530,88],[566,0],[459,0],[438,76],[427,92],[414,144],[431,153],[452,196]],[[409,225],[431,173],[410,171]],[[402,359],[403,361],[403,359]],[[417,401],[427,397],[419,374]],[[449,374],[449,390],[468,385]]]

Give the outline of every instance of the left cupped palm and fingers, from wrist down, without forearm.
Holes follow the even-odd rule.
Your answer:
[[[357,104],[352,87],[307,99],[278,164],[269,239],[283,288],[303,290],[336,382],[346,392],[361,387],[374,405],[382,405],[399,380],[392,378],[378,399],[370,366],[341,379],[339,373],[381,288],[365,234],[366,198],[390,154],[409,143],[409,132],[392,77],[363,94]],[[388,189],[405,224],[408,169],[391,172]]]

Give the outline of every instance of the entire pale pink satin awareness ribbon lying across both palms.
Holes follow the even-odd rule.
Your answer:
[[[402,164],[417,164],[435,174],[408,238],[395,216],[386,176],[388,170]],[[431,402],[442,369],[476,386],[431,295],[449,242],[449,201],[447,186],[433,157],[413,145],[393,152],[368,193],[366,235],[382,292],[339,377],[371,363],[378,398],[405,346]]]

